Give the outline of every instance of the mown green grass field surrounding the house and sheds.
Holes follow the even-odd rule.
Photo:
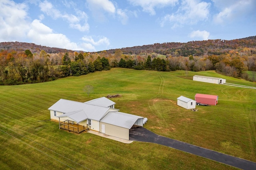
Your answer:
[[[166,146],[124,144],[82,132],[59,130],[48,108],[59,99],[113,98],[121,112],[148,118],[156,134],[256,162],[256,90],[192,81],[193,75],[222,77],[227,83],[256,83],[214,71],[138,71],[115,68],[46,83],[0,87],[1,169],[236,169]],[[88,97],[84,85],[93,85]],[[216,106],[198,112],[176,105],[181,95],[218,95]],[[44,121],[45,120],[45,121]]]

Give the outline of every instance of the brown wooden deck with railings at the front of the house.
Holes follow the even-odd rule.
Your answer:
[[[88,132],[90,130],[89,125],[87,125],[87,127],[85,127],[85,126],[73,123],[71,121],[68,121],[68,120],[66,120],[64,122],[60,122],[60,128],[66,129],[66,130],[71,131],[71,132],[76,132],[76,133],[80,133],[82,131]]]

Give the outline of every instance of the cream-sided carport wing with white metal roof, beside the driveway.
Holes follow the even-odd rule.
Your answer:
[[[143,127],[141,116],[122,112],[109,112],[100,120],[100,132],[129,140],[129,132],[133,125]]]

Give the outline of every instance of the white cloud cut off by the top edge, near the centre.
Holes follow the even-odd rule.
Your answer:
[[[166,7],[169,5],[174,6],[178,3],[178,0],[129,0],[134,6],[141,6],[144,12],[150,13],[150,15],[155,15],[156,7]]]

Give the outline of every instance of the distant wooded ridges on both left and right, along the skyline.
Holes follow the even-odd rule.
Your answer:
[[[120,50],[124,54],[136,54],[140,53],[158,53],[162,55],[220,55],[227,53],[230,50],[235,50],[237,48],[254,48],[256,49],[256,36],[251,36],[247,38],[241,38],[236,40],[203,40],[203,41],[192,41],[187,43],[180,42],[168,42],[168,43],[154,43],[151,45],[142,45],[134,47],[124,47]],[[46,47],[42,45],[36,45],[34,43],[25,42],[1,42],[0,50],[15,50],[15,51],[25,51],[29,49],[32,53],[40,52],[41,50],[47,53],[65,53],[74,52],[75,50],[62,49],[57,47]],[[115,53],[117,49],[106,50],[108,53]],[[78,51],[79,52],[79,51]],[[102,51],[97,51],[98,53]],[[94,53],[94,52],[92,52]],[[256,51],[252,51],[256,53]]]

